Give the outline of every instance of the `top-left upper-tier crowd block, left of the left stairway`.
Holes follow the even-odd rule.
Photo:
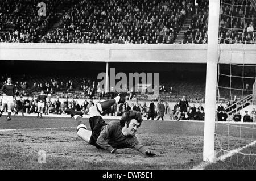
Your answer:
[[[49,22],[68,0],[45,1],[46,16],[40,16],[40,0],[0,1],[0,42],[36,42],[48,30]]]

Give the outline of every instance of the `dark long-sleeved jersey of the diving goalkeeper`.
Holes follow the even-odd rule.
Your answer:
[[[119,121],[110,121],[109,124],[101,128],[101,134],[97,139],[97,144],[101,148],[112,151],[114,148],[135,148],[141,153],[145,153],[146,146],[142,146],[135,136],[124,136]]]

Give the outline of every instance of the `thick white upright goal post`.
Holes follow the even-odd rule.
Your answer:
[[[216,121],[219,16],[220,0],[209,0],[203,146],[203,161],[209,163],[216,162],[216,154],[214,151],[214,134]]]

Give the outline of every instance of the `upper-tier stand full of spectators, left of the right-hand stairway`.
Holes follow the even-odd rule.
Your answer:
[[[39,2],[1,1],[0,41],[174,43],[193,5],[191,0],[53,0],[46,2],[46,16],[38,16]]]

